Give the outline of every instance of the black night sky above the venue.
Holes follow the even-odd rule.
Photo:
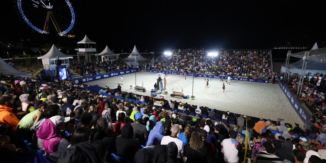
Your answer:
[[[32,2],[22,0],[22,2]],[[51,1],[51,0],[50,0]],[[54,1],[54,0],[52,0]],[[58,1],[58,0],[56,0]],[[63,0],[62,0],[63,1]],[[71,0],[76,23],[74,39],[40,36],[21,19],[16,1],[3,1],[1,39],[33,38],[46,43],[77,47],[85,34],[101,52],[106,45],[115,52],[136,45],[143,52],[167,48],[270,49],[279,46],[324,46],[323,5],[297,1],[86,1]],[[31,8],[34,9],[34,8]],[[28,9],[26,9],[28,10]],[[64,15],[62,13],[62,15]],[[32,18],[31,18],[32,19]],[[36,19],[36,18],[34,18]],[[38,39],[38,37],[42,39]],[[287,45],[290,42],[290,45]]]

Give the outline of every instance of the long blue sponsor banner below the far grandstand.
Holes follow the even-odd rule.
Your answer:
[[[175,74],[175,75],[180,75],[182,73],[180,72],[166,72],[166,71],[155,71],[155,70],[145,70],[146,72],[154,72],[154,73],[163,73],[163,74]],[[186,74],[187,76],[194,76],[194,74]],[[227,76],[215,76],[215,75],[199,75],[197,74],[198,77],[204,77],[204,78],[217,78],[217,79],[228,79]],[[248,78],[231,78],[231,80],[238,80],[238,81],[248,81],[248,82],[263,82],[263,83],[268,83],[267,80],[261,80],[261,79],[248,79]]]

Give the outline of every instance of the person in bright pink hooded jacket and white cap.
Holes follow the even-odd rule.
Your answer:
[[[45,120],[42,126],[37,130],[37,138],[43,139],[43,149],[46,154],[59,157],[70,144],[66,139],[60,137],[60,131],[65,129],[65,122],[70,117],[53,116]]]

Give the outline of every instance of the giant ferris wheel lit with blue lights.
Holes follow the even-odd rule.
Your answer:
[[[75,23],[75,12],[68,0],[17,0],[24,21],[39,33],[67,34]]]

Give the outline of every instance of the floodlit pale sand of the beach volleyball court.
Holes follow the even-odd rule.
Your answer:
[[[137,85],[141,86],[143,82],[146,92],[130,89],[130,85],[133,85],[133,87],[135,85],[134,73],[123,75],[124,82],[121,85],[121,90],[138,95],[150,96],[151,89],[154,89],[154,84],[157,79],[155,75],[156,73],[152,72],[137,72]],[[221,111],[230,111],[271,120],[281,118],[287,123],[299,123],[300,126],[304,125],[278,84],[231,81],[231,85],[226,85],[225,92],[223,93],[220,79],[212,79],[211,81],[209,78],[209,88],[205,88],[206,82],[204,79],[207,78],[203,77],[194,78],[194,86],[192,84],[193,78],[190,76],[187,76],[185,80],[184,76],[169,74],[167,79],[169,79],[167,82],[168,85],[166,86],[166,91],[168,91],[167,100],[187,102],[188,104],[207,106]],[[117,88],[118,83],[121,83],[120,76],[87,82],[86,84],[97,84],[101,87],[107,85],[110,88]],[[183,87],[184,94],[189,96],[192,95],[193,87],[195,99],[170,96],[172,94],[172,85],[173,90],[177,92],[181,92],[181,88]]]

